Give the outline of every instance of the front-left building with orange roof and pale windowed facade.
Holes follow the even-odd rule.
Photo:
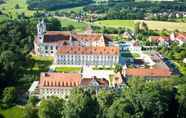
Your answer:
[[[81,75],[76,73],[41,73],[39,97],[58,96],[65,98],[75,87],[80,86]]]

